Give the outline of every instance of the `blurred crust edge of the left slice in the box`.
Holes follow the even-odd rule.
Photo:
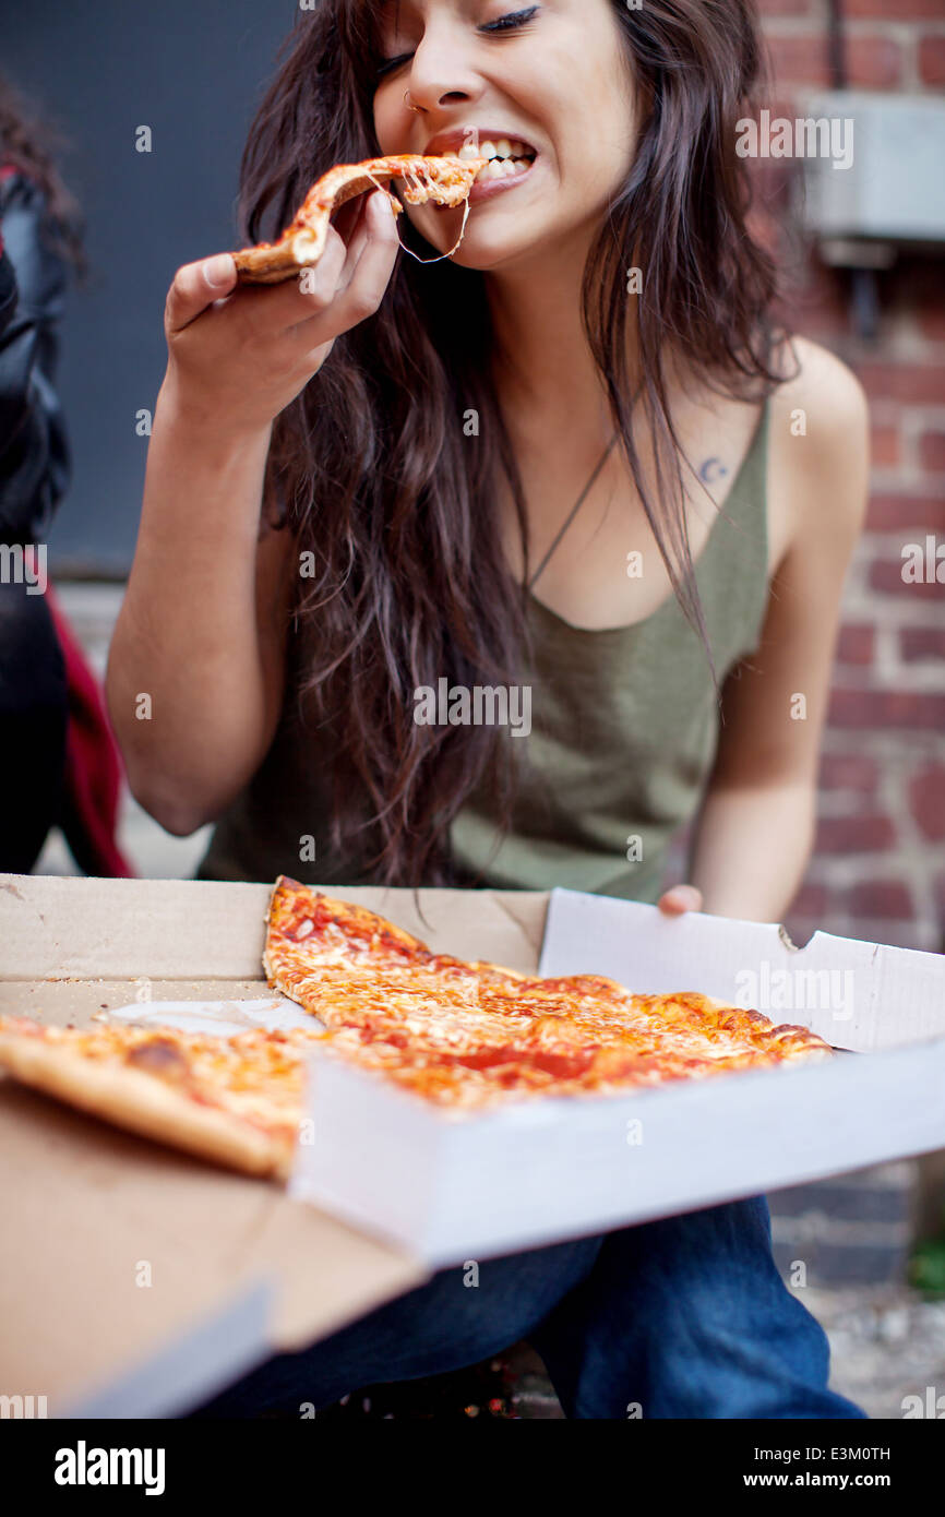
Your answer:
[[[285,1180],[291,1170],[293,1145],[140,1069],[9,1032],[0,1032],[0,1066],[35,1091],[244,1174]]]

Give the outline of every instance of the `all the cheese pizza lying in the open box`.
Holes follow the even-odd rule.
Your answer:
[[[0,1068],[70,1106],[246,1174],[285,1180],[312,1047],[457,1115],[601,1097],[830,1057],[807,1027],[695,991],[636,995],[434,953],[349,901],[282,875],[262,956],[306,1029],[220,1036],[109,1021],[0,1016]]]

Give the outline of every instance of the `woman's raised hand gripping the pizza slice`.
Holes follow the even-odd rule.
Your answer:
[[[335,337],[373,316],[397,255],[396,220],[379,191],[352,212],[347,243],[331,226],[305,281],[240,285],[231,253],[177,270],[164,320],[164,388],[177,414],[214,432],[264,431],[319,372]]]

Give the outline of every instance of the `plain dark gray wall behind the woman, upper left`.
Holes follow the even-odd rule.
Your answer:
[[[164,375],[174,269],[229,249],[240,153],[293,0],[0,0],[0,67],[71,138],[62,158],[88,223],[59,391],[74,454],[50,534],[53,573],[121,573],[147,440],[135,413]],[[135,152],[135,127],[153,152]]]

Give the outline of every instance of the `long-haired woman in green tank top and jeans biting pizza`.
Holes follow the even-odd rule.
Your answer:
[[[771,326],[734,152],[757,73],[749,0],[299,18],[250,133],[247,235],[332,162],[470,127],[513,170],[432,267],[397,258],[372,194],[311,293],[235,288],[229,255],[174,278],[108,692],[141,802],[176,833],[217,821],[205,878],[784,913],[866,417],[842,364]],[[460,212],[408,217],[422,256],[454,247]],[[529,692],[528,736],[414,719],[441,678],[519,713]],[[763,1198],[487,1262],[478,1291],[443,1271],[215,1411],[325,1405],[525,1335],[569,1415],[862,1415],[827,1391]]]

